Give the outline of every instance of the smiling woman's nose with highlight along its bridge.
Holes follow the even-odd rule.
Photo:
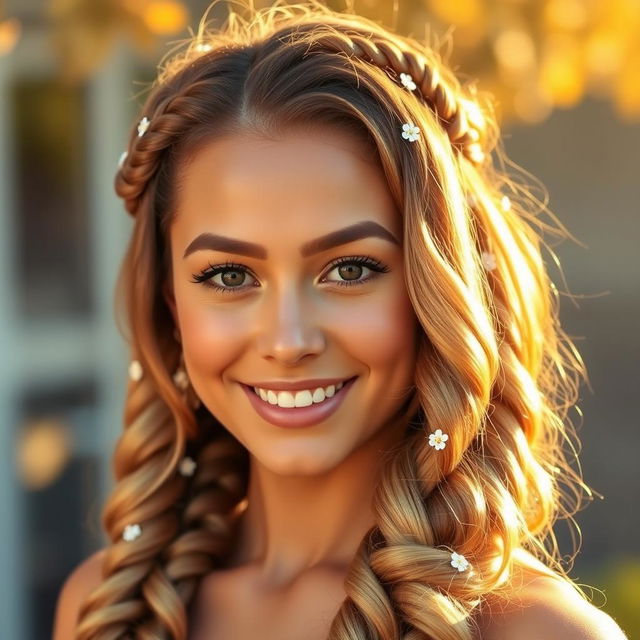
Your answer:
[[[261,310],[262,331],[257,339],[259,354],[284,365],[295,365],[308,355],[325,349],[318,310],[294,286],[266,299]]]

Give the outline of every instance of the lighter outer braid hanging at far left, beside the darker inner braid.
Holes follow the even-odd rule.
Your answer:
[[[173,476],[163,485],[162,494],[139,501],[140,488],[164,470],[165,453],[175,437],[171,414],[151,380],[143,378],[131,388],[126,413],[130,421],[114,456],[119,479],[103,511],[103,526],[111,539],[102,566],[103,582],[83,603],[76,640],[126,637],[129,622],[148,612],[140,585],[153,573],[155,558],[178,530],[172,505],[184,491],[184,478]],[[126,469],[119,464],[122,460]],[[133,542],[122,541],[122,531],[133,522],[142,523],[144,535]]]

